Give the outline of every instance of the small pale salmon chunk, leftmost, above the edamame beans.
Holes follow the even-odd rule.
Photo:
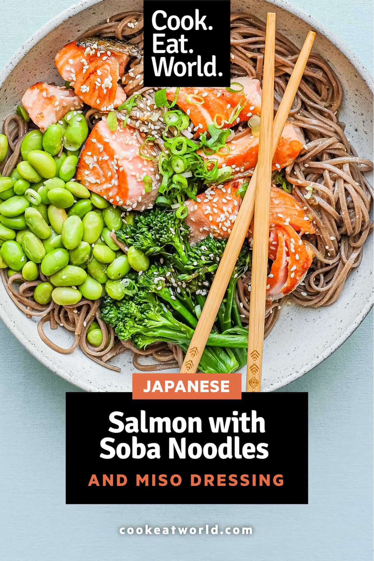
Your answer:
[[[27,88],[22,97],[22,105],[41,132],[45,132],[49,125],[57,123],[69,111],[77,111],[83,107],[73,90],[45,82],[37,82]]]

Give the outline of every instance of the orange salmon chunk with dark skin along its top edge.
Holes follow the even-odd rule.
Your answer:
[[[118,43],[121,42],[106,40],[104,45],[99,38],[73,41],[59,50],[54,59],[58,72],[80,99],[100,111],[110,111],[126,100],[117,82],[132,51],[119,50]]]

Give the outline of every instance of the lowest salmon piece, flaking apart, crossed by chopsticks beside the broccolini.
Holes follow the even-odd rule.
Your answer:
[[[241,204],[237,191],[242,185],[242,179],[230,181],[197,195],[196,201],[186,201],[192,243],[207,235],[229,237]],[[314,232],[313,223],[298,201],[283,189],[271,187],[269,259],[273,264],[267,279],[267,300],[286,296],[302,282],[312,264],[313,251],[301,236]],[[248,234],[253,237],[251,227]]]

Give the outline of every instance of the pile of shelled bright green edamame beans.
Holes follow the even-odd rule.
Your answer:
[[[110,237],[132,222],[132,213],[74,181],[87,135],[77,112],[44,135],[31,130],[21,142],[22,161],[10,177],[0,177],[0,268],[8,268],[8,277],[21,272],[25,281],[40,279],[34,300],[41,305],[75,305],[104,294],[121,300],[121,279],[131,268],[149,267],[141,251],[130,247],[126,255]],[[0,163],[7,152],[7,137],[0,135]],[[100,346],[102,339],[93,322],[87,340]]]

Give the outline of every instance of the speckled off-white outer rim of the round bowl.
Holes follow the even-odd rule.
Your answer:
[[[47,24],[43,25],[43,27],[40,27],[40,29],[36,31],[19,50],[17,50],[17,52],[13,55],[13,57],[10,59],[7,65],[4,66],[2,70],[2,75],[0,77],[0,88],[2,87],[4,81],[7,79],[8,75],[11,73],[13,68],[15,68],[15,66],[21,61],[22,57],[24,57],[24,55],[27,52],[29,52],[29,50],[33,48],[40,41],[40,39],[48,35],[50,31],[53,31],[55,27],[58,27],[60,24],[62,24],[63,21],[66,21],[71,16],[76,15],[76,13],[79,13],[83,10],[86,10],[86,8],[90,8],[95,4],[99,4],[100,2],[103,2],[103,0],[81,0],[77,4],[74,4],[70,8],[67,8],[63,12],[59,13],[57,16],[53,17],[51,20],[47,22]],[[344,56],[349,60],[349,62],[352,63],[352,65],[359,72],[363,80],[366,82],[368,88],[373,93],[373,78],[370,72],[367,70],[367,68],[363,66],[362,62],[359,61],[357,56],[355,56],[355,54],[353,54],[349,50],[347,45],[341,42],[340,39],[334,33],[332,33],[327,27],[321,24],[313,16],[309,15],[306,11],[301,10],[300,8],[294,6],[294,4],[290,2],[286,2],[284,0],[266,0],[266,2],[273,4],[274,6],[279,7],[289,13],[292,13],[292,15],[299,17],[299,19],[309,24],[314,30],[318,31],[318,33],[324,35],[331,43],[335,45],[335,47],[337,47],[341,51],[341,53],[344,54]],[[284,378],[278,381],[277,383],[271,385],[271,391],[274,391],[279,388],[283,388],[284,386],[290,384],[292,381],[301,378],[301,376],[303,376],[304,374],[315,368],[318,364],[321,364],[321,362],[323,362],[327,357],[332,355],[345,341],[347,341],[347,339],[350,337],[350,335],[352,335],[355,329],[358,328],[358,326],[366,318],[367,314],[370,312],[372,307],[373,307],[372,301],[366,302],[363,308],[358,312],[355,320],[350,324],[349,329],[347,329],[342,335],[340,335],[340,337],[335,339],[333,346],[327,348],[324,353],[318,355],[315,358],[315,360],[311,361],[308,364],[307,369],[305,371],[303,372],[299,371],[296,374],[289,375],[287,376],[287,378]],[[1,307],[0,307],[0,318],[7,326],[7,328],[11,331],[11,333],[15,335],[17,339],[19,339],[19,331],[17,330],[17,327],[12,324],[10,316],[4,313]],[[61,376],[61,378],[70,381],[70,383],[85,391],[91,391],[91,392],[98,391],[98,388],[93,387],[93,385],[87,383],[84,380],[71,381],[70,379],[67,378],[67,375],[64,372],[64,370],[62,368],[56,367],[56,364],[54,364],[54,362],[50,360],[48,356],[46,356],[44,353],[42,353],[42,355],[40,356],[35,351],[35,349],[33,348],[33,346],[29,341],[22,341],[21,339],[19,339],[19,341],[27,349],[27,351],[31,353],[31,355],[35,356],[35,358],[37,358],[42,364],[44,364],[44,366],[47,366],[47,368],[52,370],[58,376]]]

